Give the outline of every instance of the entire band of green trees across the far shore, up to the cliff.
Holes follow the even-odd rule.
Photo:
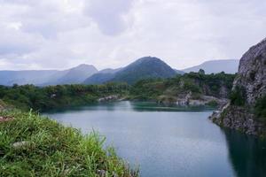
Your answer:
[[[127,83],[106,83],[104,85],[58,85],[36,87],[34,85],[0,86],[0,99],[6,104],[20,109],[32,108],[47,111],[63,107],[90,104],[99,97],[120,95],[129,100],[155,100],[167,97],[174,100],[177,96],[192,93],[197,99],[202,95],[229,97],[235,74],[199,73],[177,74],[168,79],[146,79],[134,85]]]

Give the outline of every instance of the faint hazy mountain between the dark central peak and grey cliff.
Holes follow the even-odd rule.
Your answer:
[[[238,59],[209,60],[200,65],[184,69],[185,73],[199,72],[203,69],[205,73],[237,73],[239,69]]]

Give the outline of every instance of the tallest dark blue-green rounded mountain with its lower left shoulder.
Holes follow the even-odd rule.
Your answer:
[[[114,73],[97,73],[84,83],[103,83],[107,81],[122,81],[133,84],[147,78],[168,78],[176,75],[176,71],[159,58],[139,58],[130,65]]]

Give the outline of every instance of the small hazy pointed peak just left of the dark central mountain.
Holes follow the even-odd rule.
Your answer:
[[[61,74],[63,75],[61,76]],[[90,77],[92,74],[98,73],[98,70],[93,65],[78,65],[74,68],[71,68],[66,71],[62,71],[61,73],[57,73],[54,77],[60,75],[56,84],[78,84],[82,83],[86,78]]]

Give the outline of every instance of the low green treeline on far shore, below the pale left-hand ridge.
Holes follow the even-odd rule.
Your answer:
[[[0,86],[0,99],[23,110],[47,111],[67,106],[97,102],[101,96],[126,94],[129,86],[125,83],[105,85],[58,85],[36,87],[34,85]]]

